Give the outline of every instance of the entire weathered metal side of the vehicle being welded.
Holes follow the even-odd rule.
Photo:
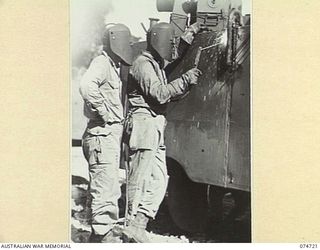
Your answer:
[[[225,71],[223,48],[202,51],[199,84],[184,99],[169,104],[165,134],[167,156],[191,180],[244,191],[250,191],[251,174],[248,27],[239,31],[236,61],[241,66],[235,73]],[[213,32],[199,34],[169,79],[190,69],[199,47],[214,44],[215,38]]]

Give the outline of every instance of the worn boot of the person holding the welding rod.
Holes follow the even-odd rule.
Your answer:
[[[149,218],[143,213],[137,213],[136,217],[123,229],[123,239],[125,242],[148,243],[146,227]]]

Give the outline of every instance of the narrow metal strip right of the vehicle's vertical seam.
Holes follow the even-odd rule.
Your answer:
[[[240,30],[230,114],[228,187],[250,191],[250,26]]]

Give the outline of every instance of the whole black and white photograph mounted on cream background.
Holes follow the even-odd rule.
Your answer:
[[[70,0],[74,243],[250,243],[251,1]]]

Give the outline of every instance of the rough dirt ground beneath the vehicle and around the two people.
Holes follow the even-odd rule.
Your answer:
[[[72,218],[71,239],[73,242],[87,242],[90,235],[90,209],[88,183],[83,178],[72,178]],[[125,186],[122,185],[122,190]],[[123,192],[124,194],[124,192]],[[119,200],[120,218],[124,217],[125,198]],[[223,218],[211,220],[204,232],[188,233],[173,222],[167,206],[167,199],[162,202],[155,220],[147,227],[151,242],[161,243],[214,243],[214,242],[251,242],[251,214],[247,207],[240,214],[234,213],[234,199],[227,194],[223,199]],[[120,219],[121,223],[121,219]]]

